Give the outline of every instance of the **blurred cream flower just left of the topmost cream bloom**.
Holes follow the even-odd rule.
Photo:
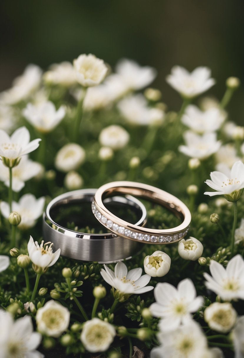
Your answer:
[[[59,84],[63,87],[71,87],[77,82],[74,67],[68,61],[54,63],[49,71],[44,73],[43,79],[48,84]]]

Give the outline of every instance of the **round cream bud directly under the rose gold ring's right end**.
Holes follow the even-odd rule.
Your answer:
[[[202,243],[195,237],[190,236],[189,239],[182,239],[178,243],[178,252],[180,257],[185,260],[195,261],[202,256],[203,246]]]

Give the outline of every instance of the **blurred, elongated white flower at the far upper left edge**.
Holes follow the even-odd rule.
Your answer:
[[[38,89],[42,80],[42,70],[40,67],[29,64],[24,73],[15,78],[13,87],[0,94],[0,102],[13,105],[26,100],[33,92]]]

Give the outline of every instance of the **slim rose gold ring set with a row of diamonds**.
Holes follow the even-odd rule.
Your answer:
[[[104,205],[104,199],[115,193],[131,194],[160,204],[172,211],[182,223],[174,228],[160,230],[128,223],[115,216]],[[100,187],[94,196],[92,211],[97,220],[112,232],[130,240],[149,244],[168,244],[181,240],[187,234],[191,222],[191,213],[181,200],[151,185],[134,182],[113,182]]]

